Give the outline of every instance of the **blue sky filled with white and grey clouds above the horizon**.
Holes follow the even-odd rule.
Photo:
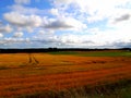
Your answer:
[[[0,48],[131,48],[131,0],[0,0]]]

